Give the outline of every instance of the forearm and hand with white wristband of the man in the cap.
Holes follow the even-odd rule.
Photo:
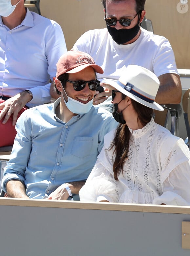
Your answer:
[[[66,185],[70,188],[72,194],[79,194],[79,190],[85,184],[85,181],[73,181],[66,183]],[[52,200],[67,200],[69,194],[65,188],[65,184],[59,186],[55,191],[53,191],[47,199]]]

